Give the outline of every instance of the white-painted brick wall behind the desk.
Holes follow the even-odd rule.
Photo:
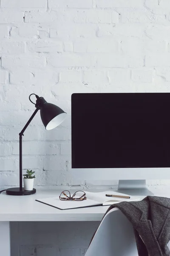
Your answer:
[[[0,0],[0,187],[18,185],[18,134],[34,111],[29,94],[68,118],[45,131],[37,114],[23,137],[23,169],[36,171],[39,186],[68,187],[77,184],[71,93],[170,92],[169,10],[169,0]],[[83,188],[108,186],[87,179]],[[42,237],[35,244],[20,241],[12,256],[82,256],[88,243],[57,247]]]

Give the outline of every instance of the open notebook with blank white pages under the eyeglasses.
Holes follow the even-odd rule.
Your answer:
[[[105,196],[106,194],[125,195],[125,194],[121,194],[113,191],[95,192],[95,193],[85,191],[85,193],[86,193],[87,199],[83,201],[61,201],[59,200],[59,197],[41,198],[41,199],[36,199],[36,201],[61,209],[61,210],[66,210],[66,209],[75,209],[75,208],[83,208],[83,207],[93,207],[93,206],[99,206],[99,205],[105,206],[105,205],[120,203],[122,201],[129,202],[129,201],[141,200],[140,198],[136,198],[135,196],[130,196],[130,199],[113,198],[113,197],[110,198]]]

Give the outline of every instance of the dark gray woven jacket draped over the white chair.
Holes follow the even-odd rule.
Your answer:
[[[108,211],[113,207],[132,223],[139,256],[170,256],[170,198],[147,196],[142,201],[113,204]]]

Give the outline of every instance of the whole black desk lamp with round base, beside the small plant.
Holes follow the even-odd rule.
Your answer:
[[[30,99],[31,95],[36,96],[36,98],[37,98],[36,104],[31,101],[31,99]],[[26,125],[24,126],[23,130],[19,134],[19,136],[20,136],[20,187],[6,189],[7,195],[31,195],[36,192],[36,189],[28,190],[28,191],[24,190],[23,184],[22,184],[22,181],[23,181],[23,177],[22,177],[23,176],[22,175],[22,136],[24,135],[23,134],[24,131],[26,130],[26,128],[28,127],[28,125],[30,124],[31,120],[34,118],[36,113],[40,110],[41,119],[42,119],[43,125],[45,126],[46,130],[51,130],[51,129],[57,127],[58,125],[60,125],[66,116],[66,113],[61,108],[57,107],[54,104],[46,102],[43,97],[39,97],[35,93],[32,93],[31,95],[29,96],[29,100],[35,105],[36,110],[34,111],[32,116],[30,117],[30,119],[28,120]]]

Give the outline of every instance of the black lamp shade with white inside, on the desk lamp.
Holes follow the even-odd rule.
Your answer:
[[[51,130],[60,125],[67,114],[56,105],[45,102],[40,106],[40,115],[45,129]]]

